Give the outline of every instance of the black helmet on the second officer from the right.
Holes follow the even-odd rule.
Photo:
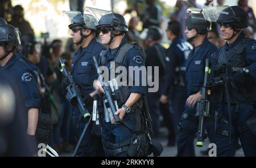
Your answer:
[[[210,22],[204,19],[203,14],[192,14],[186,20],[187,27],[195,28],[198,33],[205,34],[210,30]]]

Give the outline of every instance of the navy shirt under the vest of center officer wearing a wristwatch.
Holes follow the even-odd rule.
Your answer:
[[[113,50],[113,52],[108,49],[106,51],[106,64],[105,66],[110,69],[110,62],[114,62],[115,55],[117,54],[117,51],[121,48],[123,44],[125,44],[126,40],[125,38],[122,39],[121,44],[118,46],[118,49]],[[141,50],[138,50],[136,48],[131,48],[127,51],[125,58],[123,59],[122,66],[124,66],[127,70],[127,79],[129,79],[129,75],[131,76],[131,72],[129,72],[129,67],[138,67],[141,68],[145,66],[144,64],[145,59],[143,58],[143,53]],[[146,69],[145,69],[146,70]],[[110,71],[109,71],[110,74]],[[143,76],[144,75],[144,76]],[[129,85],[129,91],[130,93],[141,93],[143,95],[146,95],[147,92],[147,86],[146,84],[143,85],[142,81],[146,81],[146,74],[143,74],[140,71],[139,74],[136,76],[139,76],[138,79],[135,79],[135,71],[133,71],[133,85]],[[139,80],[138,86],[135,85],[135,80]]]

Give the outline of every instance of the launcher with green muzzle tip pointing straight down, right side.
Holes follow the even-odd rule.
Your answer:
[[[205,133],[205,119],[210,117],[210,102],[208,101],[208,89],[207,89],[207,80],[208,74],[210,72],[209,69],[209,59],[205,61],[205,72],[204,72],[204,85],[202,88],[202,98],[197,101],[196,107],[196,115],[199,115],[199,126],[198,126],[198,137],[196,141],[197,147],[203,147],[204,140],[207,138],[207,134]]]

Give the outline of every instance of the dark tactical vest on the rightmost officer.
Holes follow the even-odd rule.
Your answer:
[[[236,46],[234,46],[229,55],[225,53],[225,49],[222,48],[220,50],[220,54],[218,55],[217,63],[214,66],[214,77],[220,77],[221,80],[228,82],[228,89],[229,89],[229,97],[230,103],[237,104],[244,103],[244,104],[256,104],[256,88],[255,85],[252,85],[250,88],[237,88],[234,84],[232,84],[232,77],[241,70],[241,68],[246,67],[246,60],[245,60],[245,47],[249,44],[251,39],[249,38],[242,38]],[[220,58],[225,58],[226,62],[220,62]],[[224,85],[220,85],[217,87],[217,95],[218,100],[224,100],[228,102],[226,96],[226,87]]]

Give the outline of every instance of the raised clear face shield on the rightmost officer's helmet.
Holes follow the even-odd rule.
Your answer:
[[[236,16],[229,6],[204,6],[202,13],[204,18],[210,22],[230,23],[234,22]]]

